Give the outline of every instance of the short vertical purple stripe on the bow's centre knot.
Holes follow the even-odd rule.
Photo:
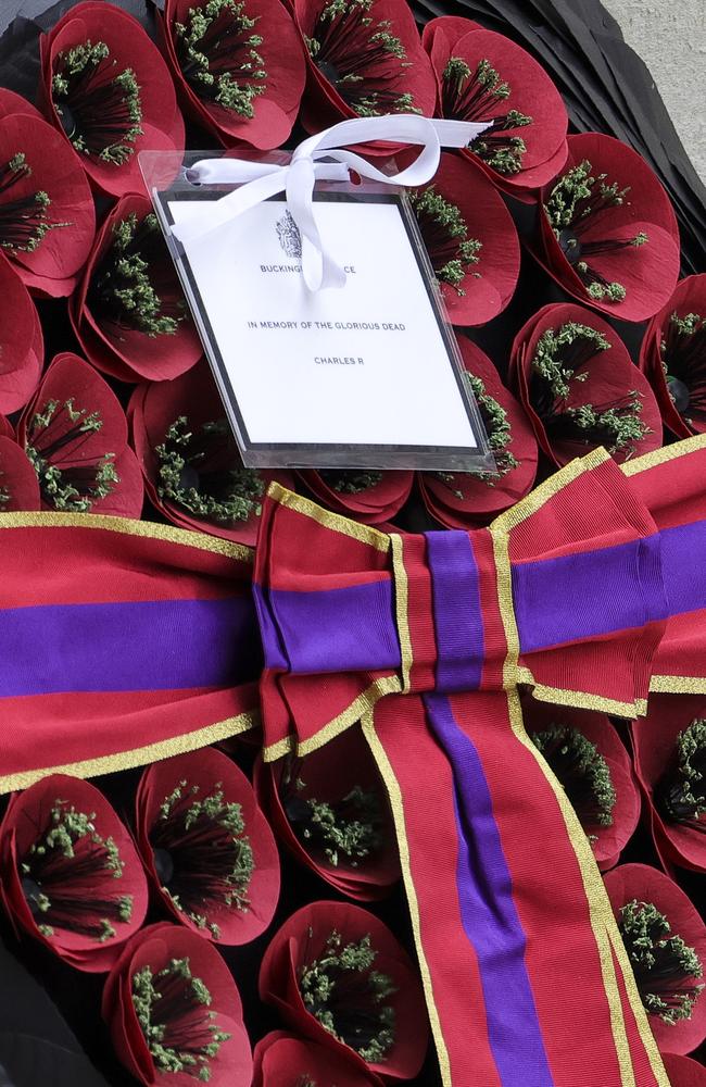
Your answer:
[[[425,533],[437,637],[437,690],[477,690],[483,667],[478,566],[468,533]]]

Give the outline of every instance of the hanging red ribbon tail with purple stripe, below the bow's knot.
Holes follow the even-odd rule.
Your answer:
[[[517,695],[393,697],[364,732],[444,1087],[668,1087],[589,840]]]

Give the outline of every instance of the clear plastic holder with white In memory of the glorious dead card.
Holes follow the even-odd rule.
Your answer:
[[[345,283],[310,290],[283,182],[202,238],[175,237],[175,224],[201,222],[204,201],[241,187],[190,179],[196,163],[222,158],[235,155],[139,161],[243,463],[495,474],[405,190],[356,175],[316,180],[314,218]]]

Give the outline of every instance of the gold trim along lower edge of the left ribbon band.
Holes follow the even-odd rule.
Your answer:
[[[35,782],[49,774],[71,774],[73,777],[97,777],[99,774],[114,774],[121,770],[133,770],[149,762],[171,759],[177,754],[197,751],[199,748],[229,739],[240,733],[247,733],[260,724],[256,713],[240,713],[237,717],[226,717],[215,725],[206,725],[181,736],[157,740],[142,748],[130,751],[118,751],[116,754],[99,755],[97,759],[86,759],[83,762],[65,763],[59,766],[45,766],[42,770],[29,770],[18,774],[0,777],[0,794],[14,792],[15,789],[26,789]]]

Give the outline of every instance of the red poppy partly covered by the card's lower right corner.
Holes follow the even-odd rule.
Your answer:
[[[527,495],[537,474],[537,439],[520,404],[507,391],[488,355],[465,336],[458,347],[490,439],[499,475],[420,472],[425,505],[447,528],[487,522]]]

